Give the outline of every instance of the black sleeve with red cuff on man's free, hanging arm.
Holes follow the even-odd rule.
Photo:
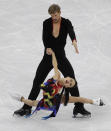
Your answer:
[[[70,20],[66,20],[67,21],[67,30],[68,30],[68,33],[69,33],[69,36],[73,42],[73,40],[76,40],[76,35],[75,35],[75,32],[74,32],[74,28],[72,26],[72,23]],[[76,40],[77,41],[77,40]]]

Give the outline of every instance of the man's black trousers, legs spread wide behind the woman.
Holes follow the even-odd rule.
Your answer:
[[[64,77],[72,77],[75,79],[74,70],[66,57],[56,57],[58,62],[58,68],[63,74]],[[28,99],[36,100],[37,96],[40,93],[39,85],[44,82],[48,73],[53,69],[52,66],[52,56],[45,54],[43,59],[41,60],[36,75],[33,81],[33,86],[31,92],[29,94]],[[75,79],[76,80],[76,79]],[[74,88],[70,88],[70,94],[72,96],[79,96],[78,85],[76,84]],[[77,105],[83,105],[82,103],[76,103]],[[23,106],[23,108],[31,108],[28,105]]]

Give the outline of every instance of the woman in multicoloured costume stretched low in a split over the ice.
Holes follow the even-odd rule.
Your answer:
[[[29,99],[25,99],[24,97],[21,97],[20,101],[24,102],[25,104],[29,106],[35,106],[36,109],[33,111],[33,113],[40,109],[53,111],[52,114],[50,114],[49,116],[43,117],[43,119],[55,117],[61,103],[64,103],[64,105],[67,105],[67,103],[81,102],[81,103],[88,103],[88,104],[103,106],[104,103],[100,98],[87,99],[83,97],[74,97],[74,96],[67,97],[67,89],[74,88],[74,85],[76,84],[76,82],[73,78],[70,78],[70,77],[61,78],[60,72],[57,66],[55,53],[52,51],[51,48],[49,48],[49,50],[52,55],[52,65],[54,67],[54,76],[51,79],[49,79],[46,83],[43,83],[40,85],[40,88],[43,89],[43,99],[39,101],[39,100],[29,100]],[[65,88],[65,94],[63,94],[64,92],[63,87]]]

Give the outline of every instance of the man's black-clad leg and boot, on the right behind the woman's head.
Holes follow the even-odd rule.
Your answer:
[[[64,77],[70,76],[75,79],[74,70],[73,70],[70,62],[68,61],[68,59],[64,58],[58,62],[59,62],[58,68],[62,72]],[[64,64],[62,64],[62,63],[64,63]],[[75,79],[75,81],[76,81],[76,79]],[[72,96],[77,96],[77,97],[80,96],[77,81],[76,81],[74,88],[70,88],[69,91]],[[90,112],[88,112],[87,110],[84,109],[83,103],[79,103],[79,102],[75,103],[75,107],[73,109],[74,116],[76,116],[78,113],[80,113],[82,115],[90,115],[91,114]]]

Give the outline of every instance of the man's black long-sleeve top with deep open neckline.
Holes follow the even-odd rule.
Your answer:
[[[46,48],[51,48],[56,56],[65,56],[64,47],[66,45],[67,35],[71,40],[76,40],[75,32],[70,20],[61,17],[59,35],[57,38],[53,36],[53,21],[52,18],[46,19],[43,22],[43,44]]]

